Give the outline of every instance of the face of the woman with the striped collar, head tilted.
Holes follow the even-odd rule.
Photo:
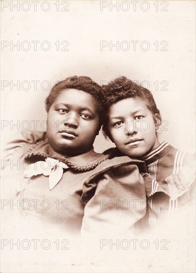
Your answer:
[[[159,145],[152,113],[140,98],[111,105],[109,132],[117,148],[130,157],[140,157]]]

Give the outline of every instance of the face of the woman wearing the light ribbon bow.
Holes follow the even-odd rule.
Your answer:
[[[62,91],[48,112],[47,137],[53,150],[74,156],[91,149],[99,132],[93,97],[77,89]]]

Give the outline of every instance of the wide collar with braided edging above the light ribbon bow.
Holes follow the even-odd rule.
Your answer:
[[[41,140],[34,144],[30,144],[30,146],[28,146],[28,150],[24,152],[25,160],[32,162],[40,160],[45,161],[48,157],[50,157],[65,163],[67,166],[74,170],[88,171],[94,169],[102,161],[108,158],[107,155],[95,152],[93,147],[90,151],[86,153],[72,156],[69,158],[65,158],[64,156],[61,156],[59,154],[51,156],[49,154],[49,146],[50,144],[48,142],[48,139]]]

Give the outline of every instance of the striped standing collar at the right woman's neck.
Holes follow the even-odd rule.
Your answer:
[[[139,159],[145,161],[145,163],[148,165],[148,164],[154,162],[155,160],[161,158],[171,148],[172,148],[172,146],[169,143],[163,141],[156,149],[146,153],[145,155],[143,155]]]

